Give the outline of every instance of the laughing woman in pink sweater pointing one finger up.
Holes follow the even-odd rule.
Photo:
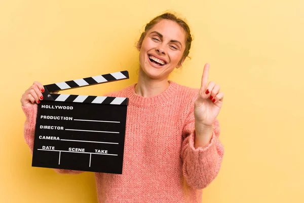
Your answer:
[[[173,14],[151,20],[142,33],[138,83],[107,96],[128,97],[123,174],[95,173],[99,202],[201,202],[202,191],[217,176],[223,158],[218,115],[223,101],[219,85],[201,88],[168,81],[189,53],[188,25]],[[43,85],[22,95],[27,117],[24,136],[33,149],[37,105]],[[58,170],[79,174],[80,171]]]

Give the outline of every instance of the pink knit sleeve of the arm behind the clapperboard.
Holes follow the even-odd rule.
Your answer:
[[[30,153],[33,154],[34,148],[34,137],[35,137],[35,125],[36,125],[36,117],[37,117],[37,105],[34,104],[30,107],[23,107],[21,106],[26,120],[24,123],[24,139],[26,144],[30,149]],[[54,170],[59,174],[80,174],[83,171],[73,171],[73,170],[65,170],[65,169],[58,169],[54,168]]]

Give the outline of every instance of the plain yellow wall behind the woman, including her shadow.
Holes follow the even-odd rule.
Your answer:
[[[97,202],[93,173],[31,167],[22,93],[128,70],[129,80],[66,90],[102,95],[137,81],[141,31],[166,10],[194,35],[191,60],[170,79],[200,87],[203,66],[219,84],[225,147],[203,202],[304,202],[304,1],[0,2],[0,202]]]

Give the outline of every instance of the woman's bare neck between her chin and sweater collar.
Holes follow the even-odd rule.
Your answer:
[[[139,68],[138,82],[135,85],[135,93],[143,97],[156,96],[169,87],[168,78],[152,79],[147,77]]]

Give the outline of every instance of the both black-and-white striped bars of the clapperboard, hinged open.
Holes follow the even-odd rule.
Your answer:
[[[107,105],[128,105],[129,99],[126,97],[111,97],[111,96],[89,96],[89,95],[74,95],[74,94],[50,94],[49,92],[96,85],[106,82],[119,81],[129,78],[128,71],[121,71],[105,75],[93,76],[78,80],[70,80],[66,82],[54,83],[45,85],[45,100],[76,102],[76,103],[91,103],[91,104],[107,104]],[[46,97],[47,96],[47,97]],[[48,99],[52,97],[52,99]]]

